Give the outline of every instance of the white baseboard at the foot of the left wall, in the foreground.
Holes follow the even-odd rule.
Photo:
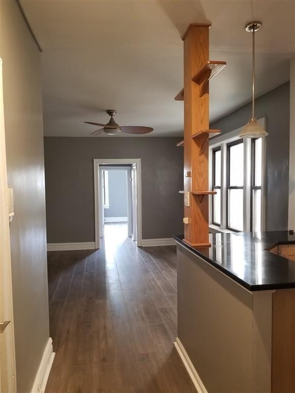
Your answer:
[[[52,339],[49,338],[36,374],[31,393],[44,393],[55,353],[53,352]]]

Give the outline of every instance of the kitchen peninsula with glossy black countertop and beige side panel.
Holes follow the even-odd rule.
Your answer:
[[[199,248],[175,240],[175,345],[199,392],[294,392],[295,261],[276,252],[295,236],[216,233]]]

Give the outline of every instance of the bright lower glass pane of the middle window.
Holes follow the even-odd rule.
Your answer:
[[[228,227],[243,230],[243,190],[228,190]]]

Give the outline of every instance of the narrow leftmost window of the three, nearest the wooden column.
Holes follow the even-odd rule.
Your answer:
[[[213,191],[216,191],[216,195],[213,195],[212,222],[213,224],[220,226],[220,213],[221,213],[221,200],[220,200],[221,148],[220,147],[213,149],[212,179],[213,179]]]

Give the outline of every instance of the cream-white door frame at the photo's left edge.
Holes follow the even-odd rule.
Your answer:
[[[1,391],[15,393],[15,344],[7,187],[2,59],[0,58],[0,321],[10,321],[5,331],[0,333],[0,393]]]

